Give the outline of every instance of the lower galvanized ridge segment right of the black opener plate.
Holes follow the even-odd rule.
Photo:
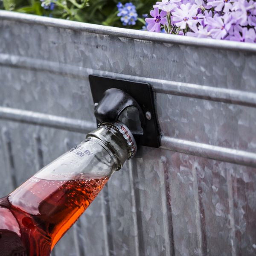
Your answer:
[[[244,166],[256,167],[256,154],[172,137],[161,137],[161,148]]]

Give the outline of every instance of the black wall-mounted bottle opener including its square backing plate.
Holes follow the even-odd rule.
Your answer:
[[[158,148],[160,133],[152,88],[147,83],[89,76],[97,123],[115,122],[129,107],[139,111],[143,135],[133,133],[138,145]]]

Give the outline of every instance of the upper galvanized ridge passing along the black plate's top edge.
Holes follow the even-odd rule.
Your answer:
[[[188,96],[199,99],[256,107],[256,93],[241,90],[117,74],[113,72],[93,70],[90,68],[76,67],[69,64],[62,64],[53,61],[39,60],[17,55],[9,55],[5,53],[0,53],[0,64],[34,70],[47,70],[53,73],[61,73],[63,75],[81,77],[82,79],[88,79],[88,74],[93,74],[99,76],[108,76],[116,79],[146,82],[153,86],[153,91],[155,93]]]

